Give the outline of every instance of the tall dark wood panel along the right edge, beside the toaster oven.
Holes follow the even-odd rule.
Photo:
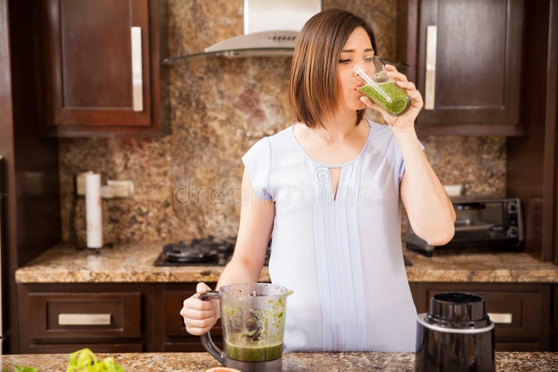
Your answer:
[[[555,0],[552,0],[555,1]],[[552,194],[555,174],[555,137],[548,127],[546,113],[548,93],[554,87],[548,80],[550,72],[549,26],[550,0],[525,2],[525,37],[522,71],[521,123],[525,137],[510,137],[506,144],[506,194],[522,199],[525,219],[525,251],[543,261],[552,260],[552,214],[555,199]],[[532,66],[546,66],[534,68]],[[541,84],[545,82],[545,84]],[[549,90],[550,89],[550,90]],[[553,126],[553,125],[551,125]],[[551,159],[552,158],[552,159]],[[550,209],[550,210],[549,210]]]

